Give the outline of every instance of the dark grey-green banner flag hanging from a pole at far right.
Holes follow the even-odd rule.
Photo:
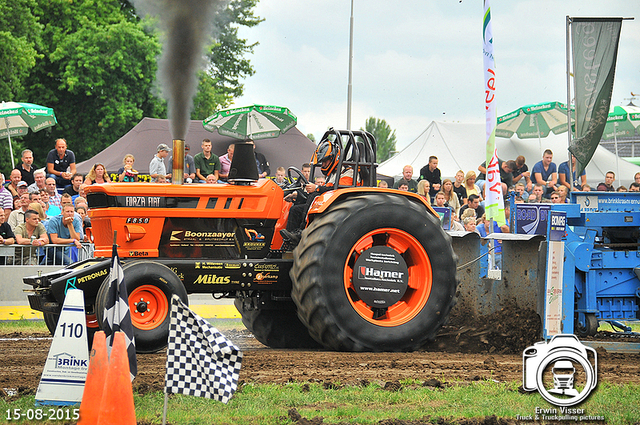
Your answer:
[[[575,138],[569,151],[580,175],[607,124],[622,18],[570,18],[575,94]]]

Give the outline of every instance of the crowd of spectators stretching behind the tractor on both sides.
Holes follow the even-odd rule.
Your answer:
[[[249,141],[253,144],[252,141]],[[281,187],[291,185],[286,169],[276,168],[271,174],[269,162],[259,152],[254,155],[260,178],[273,178]],[[186,183],[225,184],[229,179],[229,171],[235,145],[228,146],[220,156],[212,152],[212,143],[204,139],[202,151],[195,156],[190,155],[190,146],[185,144],[183,180]],[[173,157],[171,148],[161,143],[149,163],[149,177],[152,182],[163,183],[172,178]],[[168,165],[165,164],[167,159]],[[68,264],[72,260],[72,249],[81,249],[82,242],[89,241],[91,221],[88,216],[85,189],[93,184],[104,184],[112,181],[137,182],[139,173],[135,169],[133,155],[127,154],[122,160],[122,167],[110,176],[104,164],[94,164],[86,175],[76,170],[76,159],[73,151],[67,148],[65,139],[57,139],[55,146],[47,154],[44,167],[34,165],[33,152],[25,149],[20,164],[9,174],[9,179],[0,173],[6,183],[0,188],[0,243],[4,245],[28,245],[23,249],[20,259],[22,264],[40,264],[45,261],[57,261],[56,264]],[[542,159],[531,169],[523,156],[514,160],[499,159],[500,190],[508,199],[513,193],[516,203],[565,203],[569,202],[571,191],[589,191],[586,173],[576,175],[576,162],[572,157],[571,164],[565,161],[557,166],[553,162],[553,152],[545,150]],[[309,179],[311,165],[303,164],[302,175]],[[476,170],[458,170],[453,179],[442,178],[438,168],[438,158],[431,156],[427,164],[414,178],[411,165],[402,169],[402,178],[393,184],[394,189],[414,192],[425,202],[447,217],[447,228],[459,231],[472,231],[481,235],[496,232],[508,232],[508,226],[492,227],[484,213],[484,199],[488,186],[486,184],[486,164],[483,162]],[[113,178],[113,179],[112,179]],[[615,186],[615,173],[606,173],[605,181],[597,185],[598,191],[640,191],[640,173],[634,176],[629,187]],[[309,186],[318,187],[324,184],[319,177]],[[388,183],[380,181],[380,187]],[[493,187],[495,189],[495,186]],[[294,205],[305,203],[307,189],[303,186],[287,193],[285,199]],[[506,220],[509,217],[507,215]],[[66,245],[65,249],[49,252],[46,247],[51,244]],[[1,259],[0,261],[4,261]]]

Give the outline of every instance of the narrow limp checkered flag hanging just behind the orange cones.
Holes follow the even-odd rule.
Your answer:
[[[127,344],[129,357],[129,372],[131,380],[138,373],[136,360],[136,341],[133,336],[133,324],[131,323],[131,311],[129,311],[129,295],[124,284],[124,272],[118,258],[118,246],[113,244],[111,256],[111,272],[109,274],[109,289],[107,290],[107,303],[104,308],[104,322],[102,330],[107,337],[107,350],[111,354],[113,334],[117,331],[124,332],[124,340]]]

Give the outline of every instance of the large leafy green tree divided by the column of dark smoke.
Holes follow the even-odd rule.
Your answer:
[[[23,139],[34,150],[37,166],[44,165],[55,138],[66,138],[81,162],[143,117],[166,118],[166,102],[155,82],[160,37],[129,1],[16,1],[32,5],[28,9],[35,17],[33,23],[37,30],[42,29],[39,39],[34,39],[39,59],[25,80],[25,99],[54,108],[58,118],[51,130]],[[218,14],[219,32],[208,54],[210,63],[216,65],[200,73],[194,119],[228,106],[242,95],[241,79],[255,72],[245,58],[255,44],[238,38],[237,28],[262,21],[253,14],[256,3],[231,0]]]

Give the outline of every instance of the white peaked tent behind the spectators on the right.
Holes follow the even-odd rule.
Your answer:
[[[498,157],[508,160],[524,155],[529,170],[540,161],[542,154],[538,139],[496,138]],[[485,160],[485,126],[484,123],[443,123],[433,121],[413,142],[389,158],[378,167],[378,173],[400,178],[405,165],[413,166],[413,177],[418,178],[420,169],[429,161],[429,156],[438,157],[438,168],[442,178],[453,179],[458,170],[465,173],[469,170],[478,172],[478,165]],[[553,151],[553,161],[560,165],[567,160],[567,133],[553,133],[542,139],[543,149]],[[616,173],[614,185],[629,186],[640,166],[620,158],[620,172]],[[599,146],[589,165],[587,165],[587,182],[591,187],[604,181],[607,171],[616,172],[616,156]],[[618,175],[619,174],[619,175]]]

